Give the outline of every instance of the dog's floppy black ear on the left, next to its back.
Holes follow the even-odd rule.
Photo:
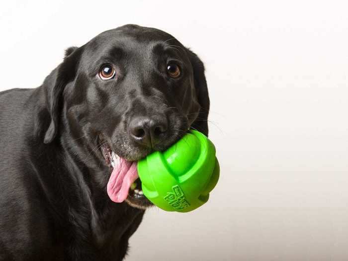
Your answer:
[[[75,79],[83,47],[70,47],[65,51],[64,61],[46,77],[43,87],[47,92],[47,109],[51,122],[46,130],[44,143],[50,143],[56,137],[62,108],[64,87]]]

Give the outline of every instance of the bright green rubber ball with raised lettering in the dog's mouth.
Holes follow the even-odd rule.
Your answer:
[[[138,162],[144,195],[167,211],[188,212],[206,203],[219,172],[213,143],[194,130]]]

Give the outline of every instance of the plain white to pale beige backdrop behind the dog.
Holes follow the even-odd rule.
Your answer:
[[[127,23],[206,66],[221,177],[190,213],[152,208],[126,261],[348,259],[347,1],[1,1],[0,90]]]

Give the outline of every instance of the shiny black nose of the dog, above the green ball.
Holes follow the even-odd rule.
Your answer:
[[[164,138],[168,120],[164,115],[134,117],[129,124],[132,139],[149,148],[154,148]]]

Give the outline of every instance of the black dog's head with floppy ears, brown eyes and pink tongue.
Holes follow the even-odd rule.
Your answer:
[[[44,87],[51,118],[44,142],[61,137],[93,171],[107,170],[116,202],[150,205],[136,161],[166,150],[189,128],[208,135],[203,63],[158,29],[125,25],[69,48]]]

